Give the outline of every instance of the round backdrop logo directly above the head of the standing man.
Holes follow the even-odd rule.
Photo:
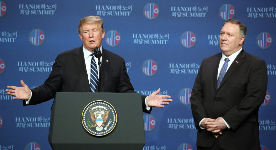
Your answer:
[[[224,4],[219,9],[219,17],[225,21],[234,18],[235,13],[235,8],[230,4]]]

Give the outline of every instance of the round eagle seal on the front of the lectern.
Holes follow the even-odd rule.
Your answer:
[[[117,114],[113,106],[101,100],[89,103],[83,109],[81,118],[85,130],[96,136],[107,135],[117,123]]]

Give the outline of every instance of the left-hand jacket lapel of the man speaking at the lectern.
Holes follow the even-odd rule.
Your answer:
[[[84,61],[84,54],[83,54],[83,46],[81,46],[77,51],[76,51],[76,56],[74,57],[76,66],[78,69],[79,76],[81,78],[81,82],[83,83],[83,86],[86,90],[86,92],[91,92],[89,81],[87,79],[87,71],[86,71],[86,65]]]

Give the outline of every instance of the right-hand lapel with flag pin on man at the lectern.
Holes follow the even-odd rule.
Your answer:
[[[100,87],[100,92],[105,84],[105,81],[107,80],[108,77],[108,70],[110,66],[110,61],[108,59],[108,53],[105,49],[102,49],[102,65],[101,65],[101,87]],[[98,87],[97,87],[98,91]]]

